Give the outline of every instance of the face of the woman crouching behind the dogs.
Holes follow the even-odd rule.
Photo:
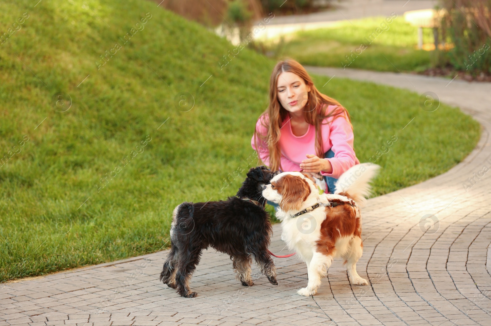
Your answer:
[[[305,85],[302,77],[291,72],[284,72],[278,76],[276,92],[281,106],[289,112],[298,112],[307,103],[307,93],[310,86]]]

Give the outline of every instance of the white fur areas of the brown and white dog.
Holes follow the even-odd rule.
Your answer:
[[[300,172],[281,173],[271,180],[272,183],[275,183],[285,175],[293,175],[303,178],[310,186],[310,195],[303,201],[300,210],[283,211],[280,204],[280,208],[276,212],[276,217],[281,221],[282,240],[307,265],[308,285],[298,290],[298,294],[302,296],[315,295],[321,285],[321,278],[327,275],[327,270],[336,257],[343,258],[347,263],[348,276],[352,284],[368,284],[368,281],[361,278],[356,272],[356,262],[363,252],[362,241],[359,236],[353,232],[351,234],[342,234],[339,228],[331,228],[333,232],[338,232],[339,234],[332,235],[336,238],[334,248],[326,255],[317,251],[316,248],[316,242],[321,238],[321,225],[327,217],[326,208],[321,206],[298,217],[293,218],[292,216],[317,202],[328,203],[334,199],[350,201],[348,197],[339,195],[341,192],[346,192],[355,200],[355,206],[346,205],[346,209],[353,209],[355,218],[359,219],[357,234],[361,234],[361,214],[358,205],[365,203],[365,196],[370,194],[369,181],[377,174],[379,168],[380,166],[370,163],[355,165],[339,177],[334,194],[319,195],[319,191],[311,179]],[[303,182],[300,179],[299,181]],[[267,185],[263,190],[263,197],[275,203],[280,203],[282,198],[272,188],[271,184]],[[304,226],[307,228],[305,229]]]

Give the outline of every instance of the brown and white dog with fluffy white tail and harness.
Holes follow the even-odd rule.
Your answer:
[[[356,273],[363,252],[359,205],[370,195],[370,180],[380,166],[357,164],[339,177],[334,194],[319,195],[313,180],[300,172],[284,172],[263,187],[263,197],[279,204],[281,239],[307,264],[308,285],[297,293],[313,296],[336,257],[348,264],[350,282],[367,285]]]

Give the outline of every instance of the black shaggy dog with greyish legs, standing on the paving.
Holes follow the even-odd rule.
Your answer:
[[[265,166],[251,168],[237,197],[226,201],[183,202],[172,213],[171,248],[160,280],[177,288],[182,297],[194,298],[189,279],[199,263],[201,251],[209,246],[227,253],[236,278],[252,286],[251,258],[270,283],[277,285],[276,268],[268,252],[272,234],[269,214],[264,210],[263,186],[273,173]]]

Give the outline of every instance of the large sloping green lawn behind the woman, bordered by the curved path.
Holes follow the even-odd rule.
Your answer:
[[[2,281],[158,251],[175,205],[234,195],[256,165],[250,137],[274,64],[244,49],[220,70],[235,47],[155,2],[34,4],[0,3],[1,31],[29,14],[0,44],[0,158],[21,150],[0,167]],[[147,12],[144,29],[97,70]],[[417,94],[337,78],[321,87],[327,80],[315,77],[349,109],[360,161],[398,136],[376,162],[377,194],[447,171],[473,149],[465,137],[479,139],[456,108],[428,113]],[[191,110],[180,92],[194,97]]]

